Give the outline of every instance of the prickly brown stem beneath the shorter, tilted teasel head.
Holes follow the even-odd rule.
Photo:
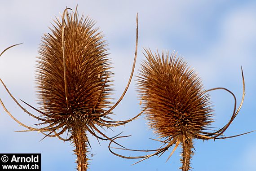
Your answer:
[[[190,159],[192,155],[192,148],[193,148],[193,141],[190,138],[186,138],[183,135],[183,142],[182,142],[182,167],[180,168],[182,171],[189,171],[190,170]]]

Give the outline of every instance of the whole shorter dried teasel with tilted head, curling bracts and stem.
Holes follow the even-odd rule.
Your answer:
[[[146,61],[143,61],[141,64],[141,70],[137,79],[138,94],[145,110],[149,127],[159,136],[157,141],[162,142],[163,145],[155,150],[125,149],[154,152],[150,155],[137,157],[127,157],[113,152],[110,149],[112,142],[110,142],[109,149],[111,153],[119,157],[143,158],[141,160],[143,161],[154,155],[161,156],[172,145],[175,145],[168,157],[169,159],[177,147],[181,145],[182,167],[180,169],[182,171],[188,171],[191,168],[190,159],[194,153],[192,151],[192,149],[194,149],[194,139],[216,140],[235,137],[223,136],[223,133],[237,116],[243,104],[245,95],[243,70],[243,97],[236,110],[236,97],[230,90],[226,88],[204,90],[199,76],[194,70],[187,66],[186,62],[184,62],[181,57],[177,57],[177,53],[169,55],[169,53],[164,52],[162,52],[162,54],[153,54],[147,49],[145,49],[145,51],[146,54],[144,55],[146,56]],[[215,132],[207,132],[213,122],[213,109],[207,92],[217,89],[225,90],[234,97],[234,112],[230,121],[224,127]],[[127,136],[119,136],[114,140],[120,137]]]

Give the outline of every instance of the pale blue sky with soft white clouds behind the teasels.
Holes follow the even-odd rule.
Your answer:
[[[96,26],[101,28],[109,44],[109,57],[115,73],[115,99],[124,90],[131,71],[138,13],[136,70],[144,59],[143,48],[175,50],[199,73],[206,89],[228,88],[240,102],[243,66],[246,84],[244,105],[225,135],[256,130],[256,2],[253,0],[9,0],[0,4],[0,51],[24,42],[0,58],[0,78],[16,98],[37,106],[35,57],[41,36],[49,32],[52,18],[60,17],[66,6],[75,9],[78,4],[79,13],[97,21]],[[116,114],[113,118],[131,118],[140,111],[134,80],[123,101],[113,111]],[[212,126],[218,129],[228,122],[234,101],[226,92],[216,91],[211,95],[216,119]],[[23,123],[37,123],[13,103],[2,86],[0,98]],[[40,141],[43,135],[37,132],[14,132],[20,130],[24,128],[18,126],[0,107],[0,153],[41,153],[42,171],[75,170],[71,143],[63,143],[57,138]],[[160,146],[148,139],[155,136],[143,116],[125,127],[117,127],[115,132],[107,130],[106,134],[112,136],[122,131],[123,135],[132,134],[127,140],[120,140],[128,148],[155,149]],[[94,154],[93,157],[90,155],[90,171],[177,171],[181,166],[180,149],[168,162],[165,161],[170,152],[131,166],[137,160],[116,157],[108,151],[108,142],[99,145],[95,138],[88,136],[91,153]],[[191,167],[196,171],[256,170],[256,133],[226,140],[195,140],[194,147],[196,151]],[[119,153],[128,154],[124,151]]]

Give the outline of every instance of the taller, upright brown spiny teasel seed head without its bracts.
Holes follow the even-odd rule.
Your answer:
[[[44,35],[40,44],[36,66],[39,104],[40,110],[49,114],[47,119],[58,118],[60,122],[72,127],[71,124],[77,120],[87,122],[93,119],[90,116],[91,109],[95,113],[103,113],[103,109],[110,104],[108,73],[111,66],[103,35],[98,28],[93,28],[95,22],[88,17],[79,18],[77,12],[68,14],[64,20],[64,55],[68,92],[66,96],[72,114],[67,118],[66,115],[70,112],[63,79],[62,21],[57,20],[55,24],[51,29],[52,33]],[[94,107],[95,104],[97,106]]]

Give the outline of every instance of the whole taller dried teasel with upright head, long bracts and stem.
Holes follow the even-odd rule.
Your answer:
[[[40,121],[36,124],[39,127],[21,123],[1,100],[0,103],[17,123],[28,129],[26,131],[38,131],[45,137],[71,141],[77,155],[77,169],[86,171],[90,145],[88,133],[97,139],[112,141],[113,138],[106,136],[101,128],[104,130],[104,127],[124,125],[141,114],[125,121],[113,121],[109,116],[123,99],[132,79],[137,57],[138,25],[132,72],[123,94],[111,106],[111,63],[103,35],[98,28],[93,28],[95,22],[92,19],[84,16],[79,18],[77,9],[75,13],[68,13],[67,10],[64,10],[62,20],[56,18],[51,33],[45,34],[40,44],[35,79],[40,109],[22,101],[40,115],[31,114],[22,107],[0,79],[13,101],[24,112]],[[70,135],[67,139],[62,137],[65,132]]]

